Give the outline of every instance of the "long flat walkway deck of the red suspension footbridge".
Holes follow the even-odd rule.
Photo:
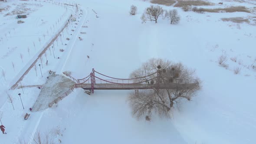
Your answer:
[[[170,83],[170,84],[160,84],[160,89],[183,89],[183,88],[190,88],[197,86],[196,83],[192,84],[176,84],[176,83]],[[77,84],[77,88],[83,88],[85,90],[91,89],[91,84]],[[154,88],[156,88],[156,85],[153,85]],[[94,84],[95,90],[129,90],[129,89],[151,89],[151,86],[148,84]]]

